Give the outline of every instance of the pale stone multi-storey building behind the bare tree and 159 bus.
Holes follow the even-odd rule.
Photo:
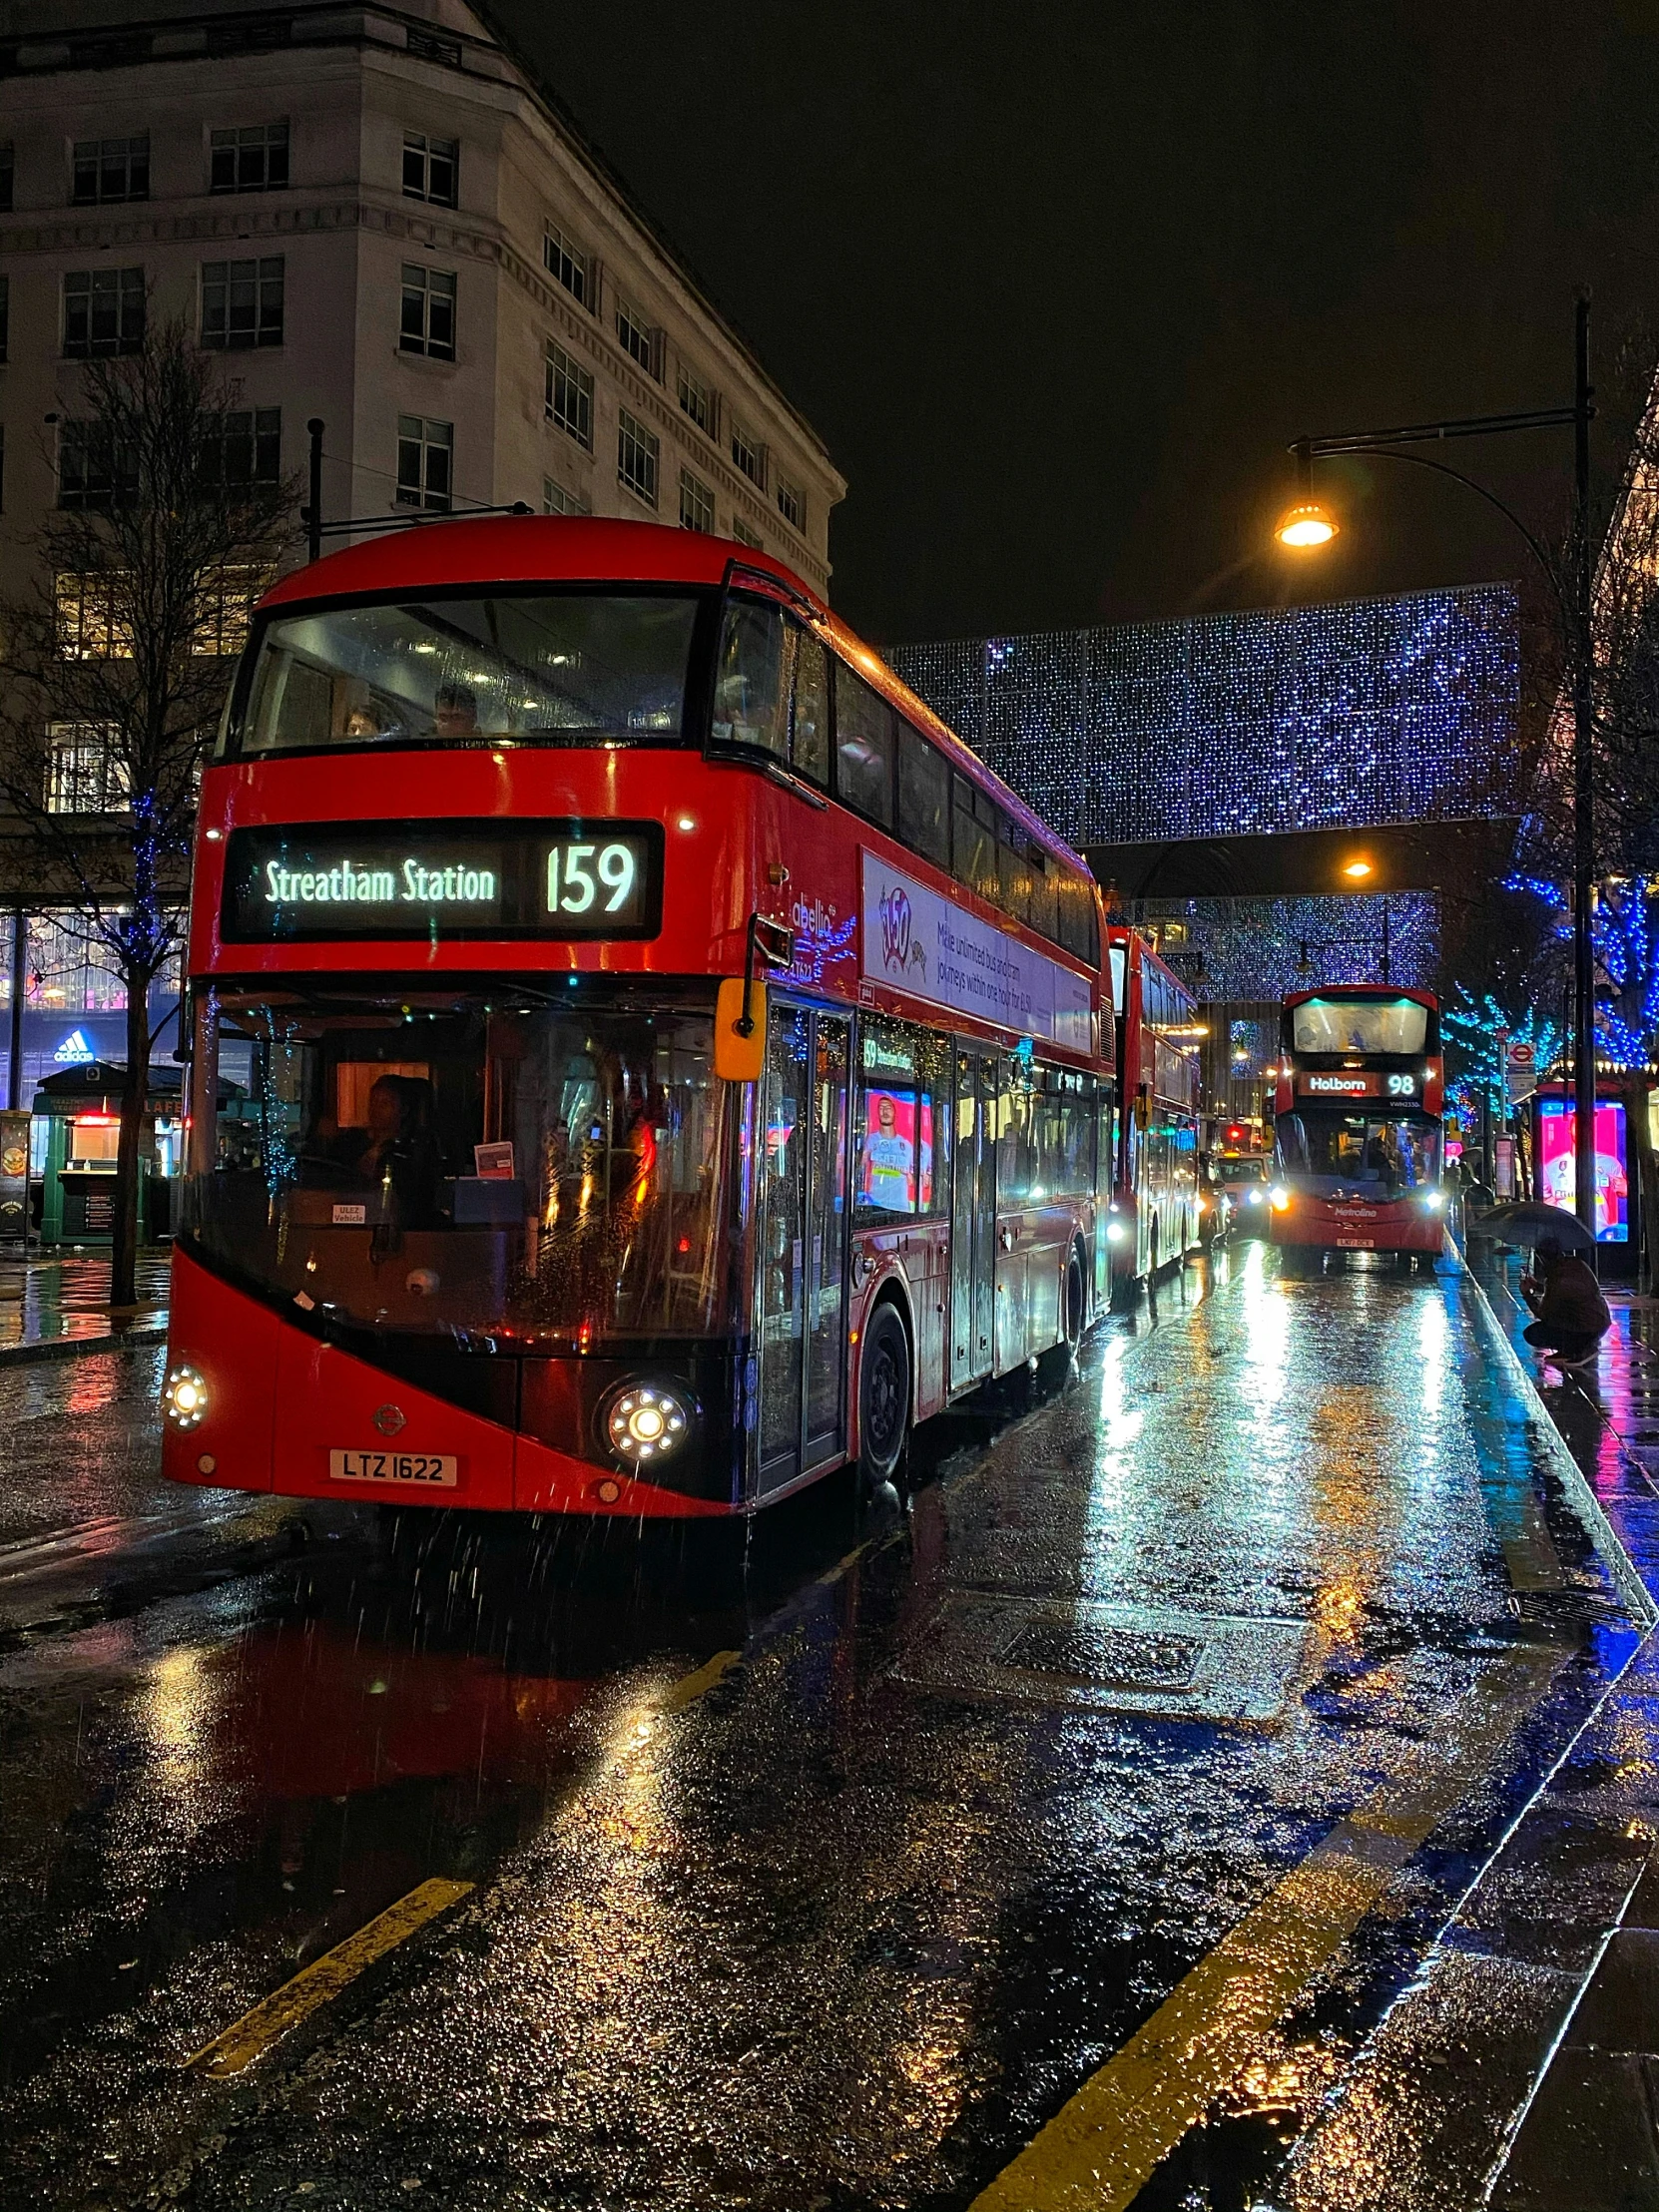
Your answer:
[[[223,352],[252,467],[303,471],[323,420],[330,522],[633,515],[765,546],[827,595],[845,480],[823,442],[460,0],[0,15],[0,597],[80,467],[80,361],[146,316]],[[27,896],[0,880],[0,905]],[[31,978],[31,1077],[119,1057],[119,991],[53,929],[0,949],[0,978]]]

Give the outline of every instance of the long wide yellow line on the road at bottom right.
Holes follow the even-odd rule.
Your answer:
[[[971,2212],[1124,2212],[1469,1790],[1562,1657],[1535,1648],[1504,1659],[1449,1765],[1378,1790],[1338,1820],[980,2190]]]

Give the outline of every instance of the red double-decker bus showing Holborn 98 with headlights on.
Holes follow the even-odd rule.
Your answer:
[[[1444,1245],[1440,1002],[1391,984],[1285,1000],[1276,1079],[1272,1241],[1287,1272],[1329,1254]]]

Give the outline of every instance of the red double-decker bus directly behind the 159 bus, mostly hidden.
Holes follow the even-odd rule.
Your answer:
[[[1141,1281],[1201,1243],[1197,1000],[1139,929],[1106,929],[1124,1113],[1108,1230],[1113,1296],[1130,1303]]]

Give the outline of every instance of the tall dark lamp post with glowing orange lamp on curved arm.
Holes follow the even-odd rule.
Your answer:
[[[1396,429],[1349,431],[1338,438],[1296,438],[1296,502],[1279,518],[1274,535],[1283,546],[1307,553],[1336,538],[1334,515],[1314,498],[1314,462],[1327,453],[1378,453],[1433,469],[1478,493],[1520,531],[1562,613],[1573,692],[1573,1194],[1575,1212],[1595,1234],[1595,951],[1590,945],[1590,891],[1595,878],[1595,695],[1590,661],[1590,294],[1579,292],[1573,345],[1573,405],[1531,407],[1522,414],[1462,416],[1451,422],[1407,422]],[[1573,531],[1566,577],[1559,575],[1537,538],[1498,493],[1427,453],[1420,445],[1449,438],[1493,438],[1517,429],[1573,427]]]

